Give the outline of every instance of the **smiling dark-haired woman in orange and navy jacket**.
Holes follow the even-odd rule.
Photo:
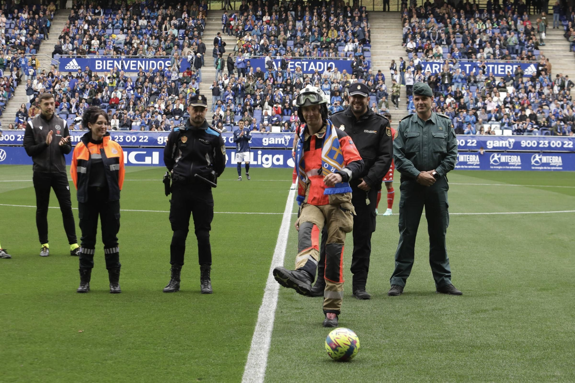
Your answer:
[[[78,293],[90,291],[90,279],[94,267],[98,217],[102,227],[104,258],[110,293],[119,294],[120,289],[120,190],[124,184],[124,152],[108,132],[108,113],[91,106],[82,115],[82,126],[89,132],[74,148],[70,175],[78,198],[78,215],[82,229],[80,251],[80,286]]]

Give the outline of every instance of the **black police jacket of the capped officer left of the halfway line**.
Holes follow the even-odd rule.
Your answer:
[[[181,176],[188,182],[196,182],[195,174],[215,181],[225,169],[225,145],[221,133],[210,128],[204,120],[199,128],[186,121],[183,128],[174,128],[168,135],[164,148],[164,163],[174,175]]]

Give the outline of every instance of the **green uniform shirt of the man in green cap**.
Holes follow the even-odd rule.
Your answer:
[[[457,162],[457,137],[449,117],[432,112],[427,121],[410,114],[399,123],[393,140],[393,159],[402,178],[417,178],[435,169],[440,176]]]

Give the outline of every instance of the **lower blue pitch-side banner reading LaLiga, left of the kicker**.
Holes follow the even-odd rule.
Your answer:
[[[126,166],[164,166],[163,148],[123,148]],[[293,168],[294,160],[291,150],[252,150],[250,166],[255,167],[289,167]],[[66,156],[70,165],[72,152]],[[226,166],[236,167],[236,151],[226,151]],[[22,146],[0,146],[0,165],[32,165],[32,158]],[[160,180],[158,180],[160,181]]]

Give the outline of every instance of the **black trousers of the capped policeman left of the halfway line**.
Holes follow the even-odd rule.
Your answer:
[[[171,265],[183,266],[190,216],[194,219],[194,232],[198,241],[198,263],[212,265],[210,246],[210,230],[214,217],[212,187],[203,183],[175,181],[171,191],[170,223],[174,232],[170,244]]]

